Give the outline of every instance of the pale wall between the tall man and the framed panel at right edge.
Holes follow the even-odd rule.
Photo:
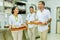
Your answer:
[[[60,7],[60,0],[45,0],[46,6],[51,8],[51,33],[56,33],[56,8]]]

